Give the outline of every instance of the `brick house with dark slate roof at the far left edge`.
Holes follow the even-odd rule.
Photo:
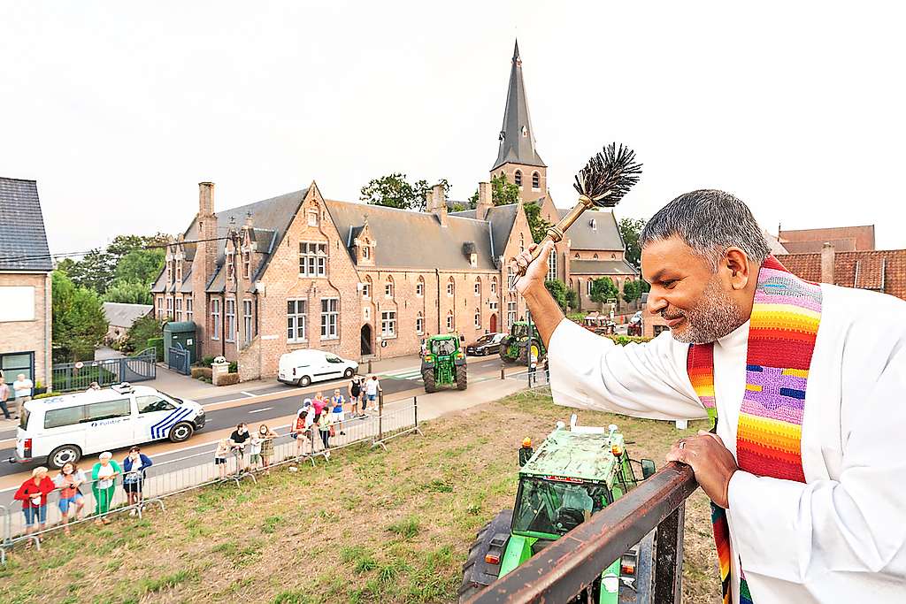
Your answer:
[[[49,387],[51,264],[34,180],[0,177],[0,370]]]

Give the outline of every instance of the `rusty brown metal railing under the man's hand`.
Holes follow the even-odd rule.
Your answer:
[[[651,602],[679,602],[686,498],[698,486],[688,465],[666,465],[468,603],[570,601],[655,528]]]

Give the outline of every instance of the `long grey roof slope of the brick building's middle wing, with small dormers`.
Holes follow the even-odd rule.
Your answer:
[[[486,221],[455,214],[447,216],[447,226],[441,226],[438,217],[427,212],[335,200],[325,200],[324,205],[346,242],[353,263],[352,242],[368,216],[368,227],[377,243],[375,266],[468,270],[473,267],[463,253],[463,244],[472,242],[476,245],[476,268],[496,270]]]

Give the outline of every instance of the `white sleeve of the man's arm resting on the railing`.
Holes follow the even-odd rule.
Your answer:
[[[839,480],[803,484],[737,472],[728,496],[746,570],[793,581],[827,571],[900,575],[906,547],[906,348],[891,355],[843,435]],[[847,437],[848,436],[848,437]],[[855,578],[853,578],[855,579]]]

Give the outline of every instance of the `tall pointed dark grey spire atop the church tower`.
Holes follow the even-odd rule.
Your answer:
[[[532,130],[532,120],[528,115],[518,40],[513,49],[513,67],[510,70],[509,91],[506,92],[504,125],[500,129],[500,149],[491,170],[496,170],[506,163],[545,168],[545,162],[535,149],[535,132]]]

